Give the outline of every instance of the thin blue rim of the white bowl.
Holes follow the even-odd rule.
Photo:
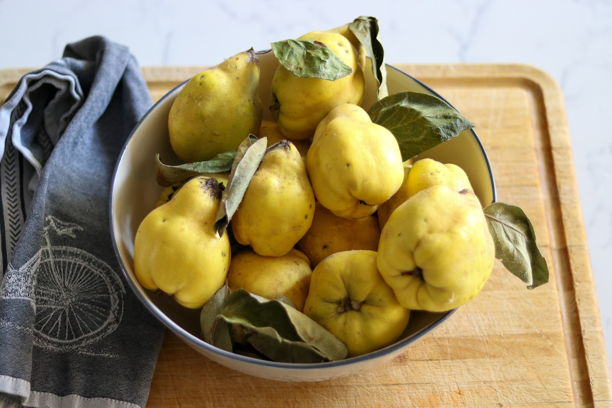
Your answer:
[[[426,84],[417,80],[417,78],[414,78],[414,76],[411,76],[408,73],[403,72],[400,69],[392,67],[391,65],[386,65],[386,68],[393,69],[403,75],[408,76],[409,78],[411,78],[411,80],[415,81],[417,84],[424,87],[424,89],[427,89],[428,92],[431,92],[431,94],[435,95],[438,98],[441,98],[442,100],[444,100],[444,102],[448,103],[449,106],[457,110],[455,106],[453,106],[446,99],[444,99],[441,95],[439,95],[438,92],[434,91]],[[155,102],[154,105],[151,106],[149,110],[147,110],[147,112],[143,115],[143,117],[141,117],[140,121],[138,121],[136,126],[133,128],[132,132],[130,132],[130,135],[128,136],[127,140],[125,141],[124,146],[121,149],[121,152],[119,153],[119,157],[117,159],[116,165],[113,170],[113,179],[111,181],[111,191],[110,191],[110,199],[109,199],[111,239],[113,241],[113,250],[114,250],[115,256],[117,257],[119,261],[119,265],[121,266],[121,272],[125,276],[125,279],[128,281],[130,287],[132,288],[132,291],[135,293],[136,297],[138,297],[140,302],[143,303],[144,306],[146,306],[146,308],[149,310],[149,312],[151,312],[160,322],[162,322],[167,328],[170,328],[170,330],[172,330],[175,335],[177,335],[179,338],[181,338],[183,341],[187,343],[195,343],[198,347],[207,349],[210,352],[213,352],[218,355],[222,355],[223,357],[227,357],[233,360],[239,360],[244,363],[252,363],[254,365],[261,365],[261,366],[267,366],[271,368],[288,369],[288,370],[323,369],[323,368],[333,368],[333,367],[338,367],[338,366],[343,366],[343,365],[352,365],[354,363],[359,363],[365,360],[376,359],[379,357],[384,357],[389,354],[394,354],[395,352],[398,352],[400,349],[403,349],[403,347],[408,346],[409,344],[412,344],[412,343],[416,343],[417,340],[427,335],[427,333],[431,332],[431,330],[438,327],[440,324],[442,324],[442,322],[446,321],[446,319],[448,319],[453,313],[455,313],[455,311],[457,311],[457,308],[454,308],[454,309],[451,309],[449,311],[442,313],[441,316],[438,317],[438,319],[436,319],[434,322],[432,322],[427,327],[424,327],[421,330],[417,331],[416,333],[413,333],[412,335],[408,336],[407,338],[397,341],[396,343],[390,344],[389,346],[384,347],[383,349],[379,349],[377,351],[373,351],[368,354],[359,355],[357,357],[350,357],[350,358],[345,358],[343,360],[337,360],[337,361],[332,361],[332,362],[322,362],[322,363],[279,363],[279,362],[272,362],[268,360],[260,360],[259,358],[247,357],[245,355],[228,352],[228,351],[219,349],[215,346],[212,346],[212,344],[206,343],[206,341],[204,341],[203,339],[195,335],[192,335],[192,333],[187,332],[187,330],[185,330],[184,328],[176,324],[172,319],[170,319],[170,317],[168,317],[165,313],[163,313],[162,310],[160,310],[154,303],[152,303],[149,299],[147,299],[142,294],[136,282],[130,277],[130,274],[127,272],[127,267],[125,266],[123,259],[121,258],[121,254],[119,253],[117,237],[115,236],[114,229],[113,229],[113,218],[114,218],[113,196],[114,196],[114,189],[115,189],[115,179],[116,179],[117,171],[119,168],[119,163],[121,162],[121,158],[124,156],[125,150],[127,150],[127,146],[130,143],[130,140],[132,139],[133,134],[136,132],[136,129],[140,127],[141,123],[146,119],[147,116],[149,116],[149,114],[151,114],[152,111],[154,111],[157,105],[162,103],[163,100],[165,100],[171,94],[173,94],[177,88],[184,86],[188,81],[189,80],[186,80],[178,84],[173,89],[171,89],[171,91],[168,91],[165,95],[163,95],[163,97],[161,97],[157,102]],[[488,159],[487,152],[485,151],[485,148],[482,142],[480,141],[480,138],[476,134],[476,132],[473,129],[470,129],[470,131],[472,133],[472,136],[474,136],[478,145],[480,146],[482,155],[485,158],[485,161],[487,163],[487,168],[489,171],[489,178],[491,180],[493,202],[495,202],[497,191],[496,191],[495,179],[493,177],[493,170],[491,169],[491,164]]]

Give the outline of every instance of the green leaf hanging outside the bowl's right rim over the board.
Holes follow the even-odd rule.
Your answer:
[[[495,243],[495,258],[526,283],[528,289],[547,283],[548,265],[525,212],[505,202],[493,202],[483,211]]]

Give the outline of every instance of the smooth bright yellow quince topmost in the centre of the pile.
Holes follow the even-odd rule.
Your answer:
[[[374,213],[404,177],[395,136],[351,103],[335,107],[319,123],[306,168],[316,198],[343,218]]]

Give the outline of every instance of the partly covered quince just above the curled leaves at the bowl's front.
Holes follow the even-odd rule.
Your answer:
[[[245,249],[232,257],[228,286],[274,299],[286,296],[302,311],[310,287],[310,261],[304,253],[291,248],[282,256],[262,256]]]

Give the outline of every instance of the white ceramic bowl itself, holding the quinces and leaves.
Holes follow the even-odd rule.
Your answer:
[[[271,52],[259,54],[259,62],[261,67],[260,96],[266,106],[270,98],[272,75],[278,62]],[[375,80],[371,70],[367,69],[365,74],[367,83],[362,106],[368,109],[376,101]],[[168,141],[167,118],[174,98],[185,83],[162,97],[136,125],[119,156],[111,187],[111,234],[117,257],[136,296],[166,327],[196,351],[228,368],[268,379],[315,381],[354,374],[386,362],[405,352],[415,341],[438,327],[453,313],[453,311],[446,313],[414,311],[408,327],[396,343],[367,355],[338,362],[316,364],[267,362],[222,351],[204,342],[200,338],[200,311],[187,310],[167,295],[144,289],[136,280],[133,271],[136,230],[147,213],[153,209],[162,190],[155,181],[155,154],[159,153],[165,163],[178,163]],[[389,94],[416,91],[440,97],[429,87],[390,66],[387,66],[387,86]],[[269,113],[264,113],[264,118],[266,115],[269,119]],[[468,174],[472,187],[483,205],[494,201],[493,173],[485,150],[472,130],[466,130],[457,138],[428,150],[423,156],[460,166]]]

